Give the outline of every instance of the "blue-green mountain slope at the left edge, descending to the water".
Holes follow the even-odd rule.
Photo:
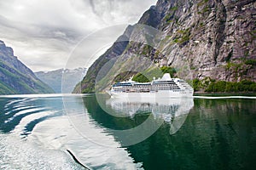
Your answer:
[[[54,91],[14,56],[0,41],[0,94],[50,94]]]

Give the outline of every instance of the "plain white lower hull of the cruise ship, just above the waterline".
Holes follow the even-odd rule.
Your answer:
[[[159,92],[148,92],[148,93],[116,93],[112,91],[108,91],[108,94],[113,96],[114,98],[155,98],[155,99],[163,99],[163,98],[191,98],[193,97],[193,91],[159,91]]]

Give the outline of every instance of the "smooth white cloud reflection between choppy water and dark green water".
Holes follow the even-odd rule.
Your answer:
[[[84,115],[83,115],[84,116]],[[82,117],[78,117],[81,119]],[[134,163],[125,148],[114,141],[113,136],[104,133],[104,129],[95,127],[93,123],[87,125],[94,138],[103,140],[115,147],[106,147],[88,139],[84,139],[70,124],[67,116],[58,116],[38,124],[28,139],[39,141],[44,147],[55,150],[72,150],[78,160],[94,169],[95,167],[108,167],[111,169],[137,169],[141,164]]]

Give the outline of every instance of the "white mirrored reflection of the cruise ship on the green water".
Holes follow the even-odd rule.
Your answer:
[[[132,99],[110,98],[106,100],[108,113],[113,116],[134,117],[137,114],[151,113],[154,120],[162,120],[170,124],[170,134],[182,127],[189,111],[194,106],[193,98],[172,99]]]

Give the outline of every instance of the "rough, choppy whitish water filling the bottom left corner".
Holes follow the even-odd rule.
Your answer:
[[[0,133],[0,169],[82,169],[61,150],[47,150],[13,134]]]

